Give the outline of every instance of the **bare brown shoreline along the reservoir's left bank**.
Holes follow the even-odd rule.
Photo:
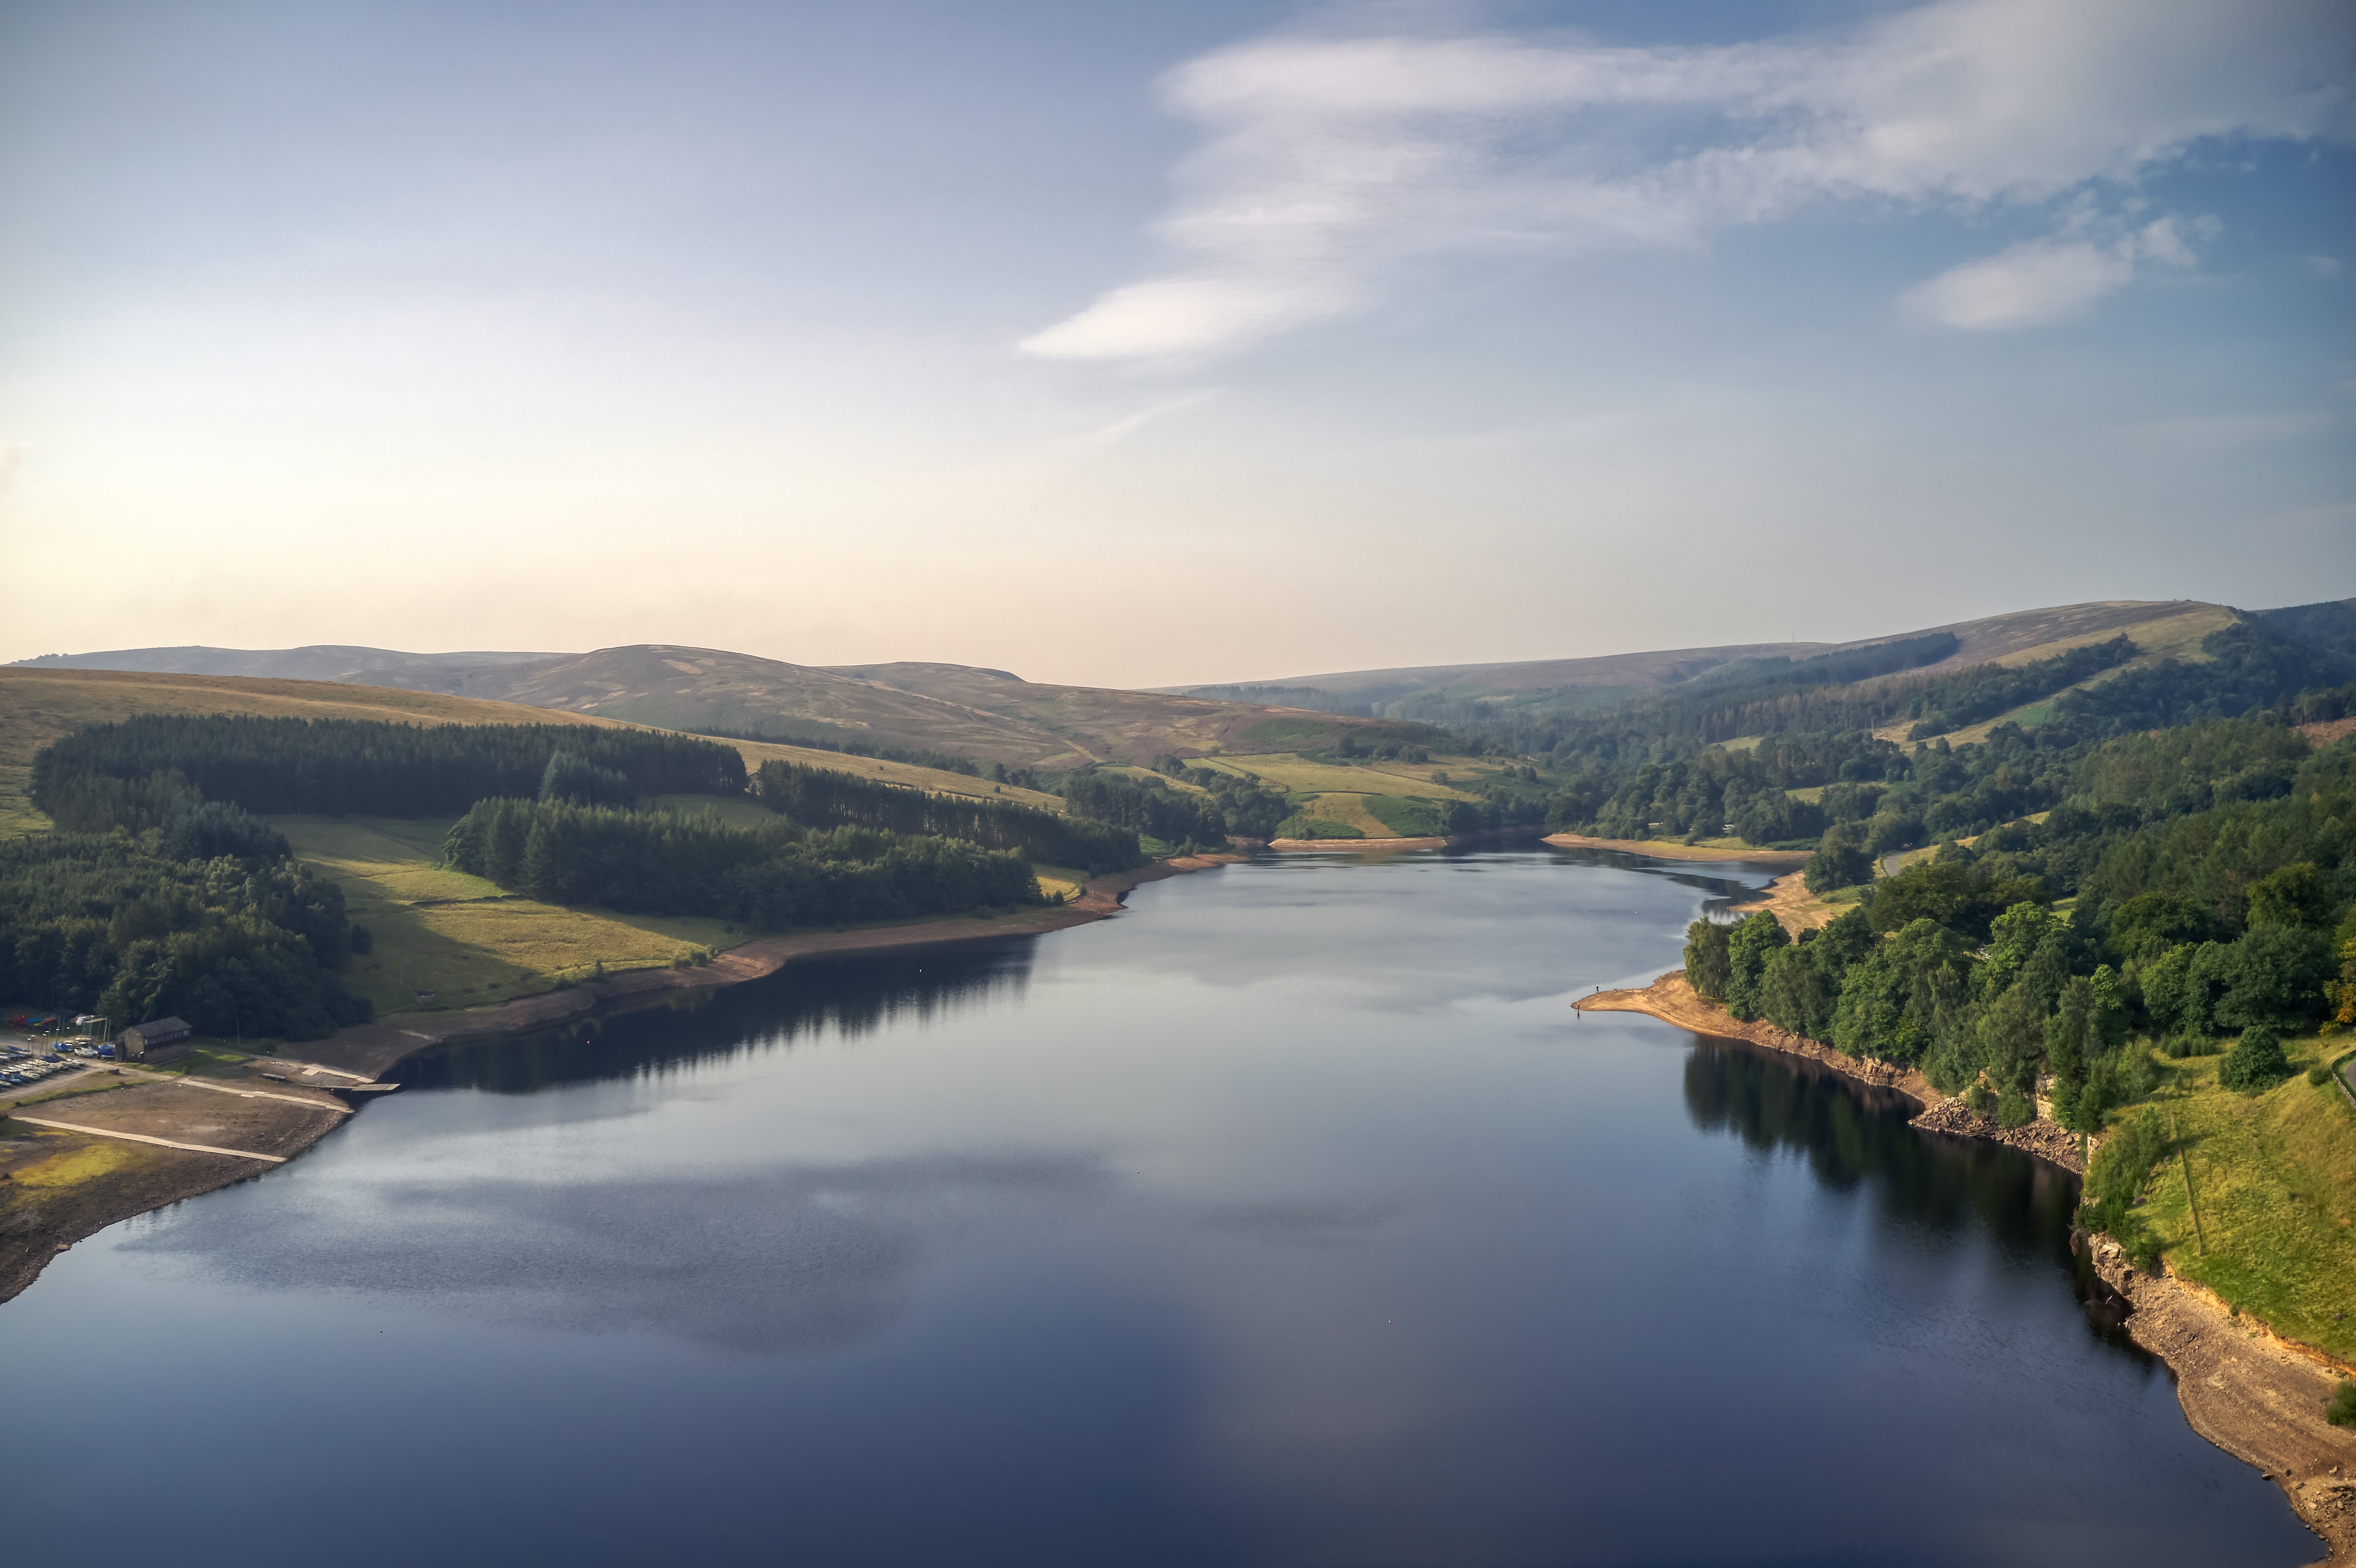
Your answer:
[[[1171,859],[1147,862],[1133,871],[1091,878],[1081,895],[1070,904],[1023,911],[1015,916],[942,916],[933,921],[912,921],[907,925],[869,925],[865,930],[754,937],[742,946],[716,954],[712,963],[693,970],[622,970],[608,979],[561,986],[537,996],[516,996],[488,1008],[464,1008],[452,1012],[391,1012],[370,1024],[337,1029],[325,1041],[294,1045],[292,1050],[304,1052],[302,1062],[290,1055],[254,1057],[250,1067],[259,1071],[264,1067],[302,1067],[309,1062],[335,1076],[370,1081],[393,1064],[422,1050],[434,1050],[436,1045],[532,1034],[537,1029],[580,1022],[617,1005],[657,998],[671,991],[700,991],[766,979],[796,958],[881,951],[893,946],[935,946],[942,942],[980,942],[987,937],[1037,937],[1053,930],[1088,925],[1093,921],[1110,921],[1121,913],[1121,897],[1133,888],[1171,876],[1185,876],[1187,871],[1209,871],[1211,866],[1237,864],[1242,859],[1249,859],[1249,855],[1178,855]],[[80,1083],[85,1083],[85,1078],[75,1078],[75,1085]],[[104,1109],[146,1109],[151,1097],[134,1104],[132,1099],[125,1099],[125,1095],[141,1095],[151,1083],[153,1081],[141,1074],[137,1083],[108,1085],[104,1090]],[[68,1092],[59,1095],[54,1104],[73,1107],[71,1118],[75,1123],[87,1123],[92,1114],[101,1109],[92,1107],[94,1099],[101,1097],[90,1092]],[[33,1104],[52,1104],[52,1099],[42,1097]],[[356,1107],[332,1121],[318,1116],[292,1116],[290,1121],[290,1116],[280,1114],[269,1128],[269,1154],[280,1163],[290,1161],[335,1128],[344,1125],[353,1114]],[[7,1121],[7,1116],[0,1116],[0,1121]],[[108,1116],[101,1116],[101,1121],[108,1121]],[[108,1130],[113,1128],[99,1125],[90,1128],[90,1135],[101,1137]],[[90,1236],[97,1236],[106,1227],[155,1212],[158,1208],[170,1208],[172,1203],[181,1203],[207,1191],[219,1191],[221,1187],[250,1182],[269,1168],[273,1165],[231,1154],[172,1151],[160,1163],[141,1163],[120,1175],[108,1172],[82,1182],[73,1191],[71,1201],[61,1203],[61,1212],[54,1215],[52,1222],[24,1227],[7,1224],[0,1229],[0,1304],[14,1300],[26,1285],[40,1278],[40,1271],[52,1257]]]

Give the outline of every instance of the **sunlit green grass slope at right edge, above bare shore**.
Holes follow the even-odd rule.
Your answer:
[[[2302,1071],[2264,1095],[2217,1088],[2222,1057],[2168,1062],[2172,1085],[2153,1104],[2175,1111],[2201,1229],[2175,1158],[2153,1172],[2144,1220],[2177,1274],[2276,1333],[2356,1361],[2356,1109],[2304,1074],[2344,1048],[2314,1036],[2285,1043]]]

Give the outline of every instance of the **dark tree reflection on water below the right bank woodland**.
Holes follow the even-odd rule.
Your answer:
[[[2005,1255],[2069,1271],[2087,1326],[2151,1361],[2127,1340],[2127,1304],[2092,1260],[2071,1248],[2078,1177],[2019,1149],[1908,1125],[1913,1099],[1783,1052],[1692,1036],[1685,1111],[1703,1132],[1727,1132],[1760,1154],[1791,1151],[1833,1191],[1873,1187],[1892,1220],[1937,1234],[1979,1229]]]

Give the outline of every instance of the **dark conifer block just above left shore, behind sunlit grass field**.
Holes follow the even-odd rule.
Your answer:
[[[782,817],[737,829],[712,812],[570,800],[476,800],[443,841],[443,859],[551,904],[752,930],[1041,902],[1020,850],[865,826],[813,831]]]

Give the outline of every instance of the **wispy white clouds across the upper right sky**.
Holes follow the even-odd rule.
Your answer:
[[[1159,221],[1171,266],[1023,348],[1204,356],[1366,311],[1432,257],[1696,245],[1826,202],[2038,205],[2212,137],[2344,137],[2349,52],[2342,0],[1941,0],[1699,49],[1260,38],[1162,82],[1202,132]],[[2191,257],[2172,228],[2062,235],[1925,299],[1970,325],[2050,320],[2144,259]]]

